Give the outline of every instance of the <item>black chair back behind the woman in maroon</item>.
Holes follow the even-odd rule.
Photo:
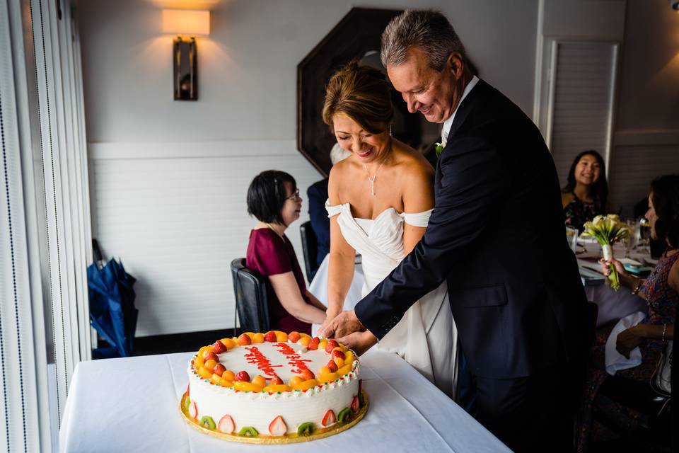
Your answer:
[[[231,261],[233,292],[236,294],[236,316],[245,332],[268,332],[267,277],[245,267],[245,258]],[[234,330],[236,329],[236,319]]]

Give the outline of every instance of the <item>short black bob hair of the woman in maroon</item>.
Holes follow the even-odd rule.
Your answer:
[[[248,188],[248,214],[260,222],[283,224],[281,211],[288,197],[285,183],[290,183],[293,192],[297,190],[295,178],[284,171],[267,170],[255,176]]]

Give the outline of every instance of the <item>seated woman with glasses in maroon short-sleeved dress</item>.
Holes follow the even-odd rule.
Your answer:
[[[248,268],[269,280],[269,319],[277,331],[311,334],[311,323],[325,320],[325,306],[306,290],[287,227],[299,218],[302,198],[284,171],[263,171],[248,188],[248,213],[260,222],[250,231]]]

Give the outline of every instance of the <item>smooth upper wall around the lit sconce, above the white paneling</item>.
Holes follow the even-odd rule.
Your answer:
[[[418,6],[442,8],[484,78],[528,108],[533,100],[536,4],[457,0],[421,1]],[[366,6],[408,5],[383,0]],[[200,99],[191,103],[173,101],[172,37],[161,31],[156,4],[82,1],[88,141],[294,138],[296,66],[352,6],[364,5],[346,0],[216,4],[211,33],[199,38]]]

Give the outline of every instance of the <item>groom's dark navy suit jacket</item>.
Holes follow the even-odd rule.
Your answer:
[[[586,296],[533,122],[479,81],[455,114],[435,184],[422,241],[356,306],[361,323],[382,338],[447,279],[472,375],[523,377],[581,354]]]

